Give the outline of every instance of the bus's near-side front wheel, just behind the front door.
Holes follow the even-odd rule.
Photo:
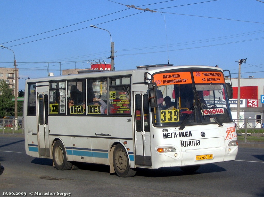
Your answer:
[[[117,144],[113,154],[115,173],[120,177],[133,177],[136,174],[134,169],[129,167],[128,155],[121,144]]]

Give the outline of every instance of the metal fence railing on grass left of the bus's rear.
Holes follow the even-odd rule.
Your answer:
[[[0,119],[0,133],[24,134],[24,119]]]

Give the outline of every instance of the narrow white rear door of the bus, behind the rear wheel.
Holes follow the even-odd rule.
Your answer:
[[[38,87],[37,87],[38,88]],[[44,87],[40,87],[44,88]],[[48,127],[48,92],[38,92],[37,89],[37,119],[39,156],[50,157],[49,127]]]

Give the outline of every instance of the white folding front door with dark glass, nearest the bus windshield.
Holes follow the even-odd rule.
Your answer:
[[[149,102],[144,92],[134,92],[135,164],[151,166]]]

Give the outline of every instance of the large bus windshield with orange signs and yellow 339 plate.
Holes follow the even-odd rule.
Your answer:
[[[181,70],[182,71],[182,70]],[[153,75],[157,84],[155,126],[180,127],[232,122],[224,75],[219,70],[189,69]]]

